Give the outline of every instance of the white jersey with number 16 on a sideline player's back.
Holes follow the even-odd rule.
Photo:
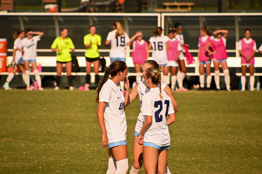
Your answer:
[[[166,42],[169,40],[167,36],[152,36],[149,39],[149,42],[152,45],[152,59],[158,64],[163,65],[167,62],[166,56]]]

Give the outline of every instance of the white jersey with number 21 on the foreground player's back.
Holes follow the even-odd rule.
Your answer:
[[[174,113],[170,97],[162,90],[159,97],[159,88],[151,88],[142,98],[142,115],[152,116],[152,123],[144,132],[143,141],[155,143],[159,146],[170,145],[170,135],[167,126],[167,115]]]

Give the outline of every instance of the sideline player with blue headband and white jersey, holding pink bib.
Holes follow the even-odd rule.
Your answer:
[[[188,89],[183,87],[183,80],[185,78],[185,73],[187,73],[187,68],[185,67],[185,56],[183,53],[183,46],[184,46],[184,36],[182,34],[183,25],[179,22],[174,24],[174,28],[176,29],[176,39],[180,41],[181,45],[181,52],[179,54],[179,68],[177,72],[177,83],[179,86],[179,91],[188,91]]]

